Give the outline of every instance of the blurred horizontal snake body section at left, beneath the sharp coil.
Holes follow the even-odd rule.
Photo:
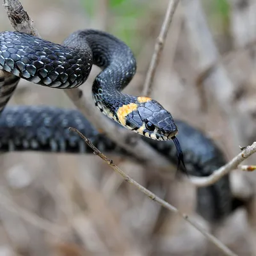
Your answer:
[[[68,127],[77,128],[104,152],[124,152],[94,129],[79,111],[48,106],[6,107],[0,115],[0,152],[92,153]]]

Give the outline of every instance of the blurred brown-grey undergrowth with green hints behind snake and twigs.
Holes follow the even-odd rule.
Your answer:
[[[141,94],[167,0],[21,3],[46,40],[61,43],[85,28],[108,31],[124,40],[138,64],[125,92]],[[227,159],[239,153],[239,145],[255,140],[255,13],[256,0],[180,1],[154,79],[152,97],[174,118],[205,131]],[[13,30],[3,6],[0,30]],[[97,72],[93,67],[84,92],[91,93]],[[74,108],[61,90],[26,81],[20,81],[10,104]],[[212,231],[194,214],[195,188],[188,182],[166,182],[124,157],[109,157]],[[247,163],[255,161],[252,156]],[[0,166],[0,256],[221,255],[195,228],[171,212],[163,213],[97,156],[12,153],[0,156]],[[255,173],[234,173],[241,193],[253,195]],[[238,255],[256,255],[255,209],[252,196],[250,207],[214,227],[214,234]]]

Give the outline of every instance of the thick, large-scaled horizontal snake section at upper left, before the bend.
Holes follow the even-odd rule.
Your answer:
[[[71,49],[19,32],[0,33],[0,69],[32,83],[74,88],[92,68],[92,51]]]

